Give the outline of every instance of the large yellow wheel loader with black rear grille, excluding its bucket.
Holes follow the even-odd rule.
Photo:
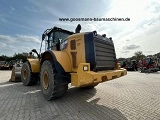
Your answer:
[[[42,34],[45,52],[32,50],[38,58],[29,58],[22,66],[23,85],[34,85],[40,80],[45,99],[51,100],[64,95],[69,83],[93,88],[127,74],[117,63],[112,38],[80,30],[80,25],[75,33],[58,27],[47,29]]]

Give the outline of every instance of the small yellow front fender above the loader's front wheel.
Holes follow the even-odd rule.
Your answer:
[[[34,73],[40,72],[40,60],[39,59],[30,59],[28,58],[28,61],[31,65],[31,71]]]

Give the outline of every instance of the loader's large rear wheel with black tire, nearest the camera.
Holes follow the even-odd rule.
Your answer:
[[[44,85],[45,81],[45,75],[48,75],[47,77],[47,87]],[[55,79],[54,76],[56,74],[56,70],[54,69],[54,61],[45,60],[41,67],[40,72],[40,83],[41,83],[41,89],[43,96],[46,100],[53,100],[56,98],[59,98],[63,96],[67,89],[68,84],[57,86],[55,85]]]

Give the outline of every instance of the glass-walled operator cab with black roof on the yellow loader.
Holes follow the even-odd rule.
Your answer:
[[[45,40],[45,50],[60,51],[64,48],[64,45],[67,42],[66,38],[72,34],[74,33],[58,27],[47,29],[42,34],[42,41]]]

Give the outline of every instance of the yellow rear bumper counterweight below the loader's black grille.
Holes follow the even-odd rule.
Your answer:
[[[90,69],[88,69],[88,71],[84,71],[83,66],[88,66],[88,68],[90,68],[89,63],[81,63],[78,66],[77,73],[71,73],[71,84],[73,86],[89,86],[95,83],[109,81],[127,74],[127,70],[122,68],[119,70],[93,72],[90,71]]]

